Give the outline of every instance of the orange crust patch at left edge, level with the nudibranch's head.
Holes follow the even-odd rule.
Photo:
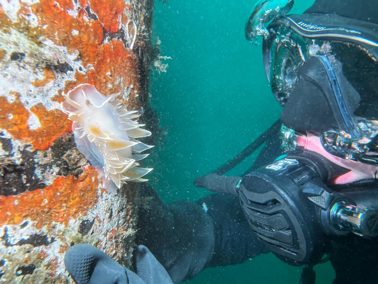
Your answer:
[[[71,122],[59,109],[48,111],[42,104],[30,108],[39,119],[40,127],[29,129],[30,112],[19,100],[19,94],[12,93],[15,100],[9,103],[6,97],[0,97],[0,128],[8,131],[12,137],[33,145],[35,150],[45,150],[57,137],[71,131]]]

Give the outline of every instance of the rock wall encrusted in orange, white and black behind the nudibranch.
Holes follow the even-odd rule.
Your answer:
[[[0,0],[0,282],[72,283],[63,256],[76,243],[129,264],[137,185],[107,194],[59,103],[90,83],[145,106],[151,7]]]

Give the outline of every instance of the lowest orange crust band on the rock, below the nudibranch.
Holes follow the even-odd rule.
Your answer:
[[[59,176],[51,186],[15,196],[0,196],[0,225],[18,225],[25,220],[36,228],[64,223],[86,214],[98,200],[98,173],[92,167],[78,178]]]

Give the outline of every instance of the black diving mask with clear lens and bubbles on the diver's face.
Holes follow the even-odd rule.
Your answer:
[[[266,2],[274,7],[275,1]],[[282,123],[321,136],[336,156],[378,165],[378,25],[336,14],[284,16],[288,11],[282,11],[277,19],[265,17],[273,20],[269,25],[260,20],[258,32],[249,32],[249,39],[263,36],[263,63],[284,106]],[[248,22],[256,22],[251,17]]]

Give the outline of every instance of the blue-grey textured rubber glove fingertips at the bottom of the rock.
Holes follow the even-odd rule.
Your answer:
[[[148,248],[139,245],[134,253],[138,275],[98,248],[86,244],[68,249],[64,265],[77,284],[173,284]]]

